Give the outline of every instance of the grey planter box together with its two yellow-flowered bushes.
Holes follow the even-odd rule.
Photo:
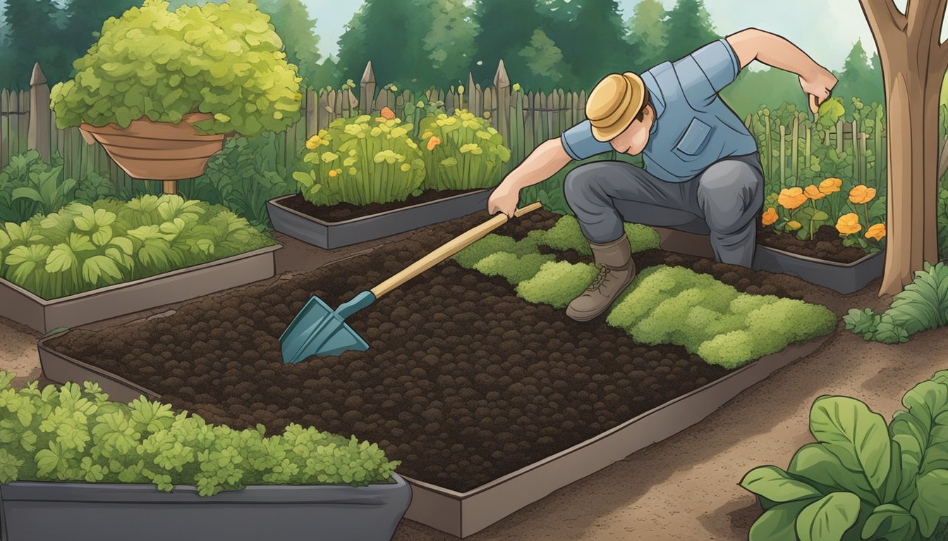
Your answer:
[[[487,187],[510,158],[501,135],[460,110],[422,124],[419,145],[388,107],[334,120],[306,141],[306,169],[293,173],[300,192],[267,203],[274,228],[336,248],[485,209]]]

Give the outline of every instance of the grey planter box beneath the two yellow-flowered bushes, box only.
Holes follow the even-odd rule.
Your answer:
[[[281,201],[294,197],[295,194],[267,201],[266,211],[275,230],[304,243],[332,249],[374,241],[426,225],[447,222],[478,210],[486,210],[487,197],[491,190],[478,189],[342,222],[324,222],[281,204]]]

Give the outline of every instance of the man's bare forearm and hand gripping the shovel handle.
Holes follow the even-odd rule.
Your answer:
[[[570,163],[570,160],[570,154],[566,153],[558,137],[544,141],[494,189],[487,201],[487,211],[491,214],[503,212],[507,216],[513,216],[517,209],[520,189],[550,178]]]

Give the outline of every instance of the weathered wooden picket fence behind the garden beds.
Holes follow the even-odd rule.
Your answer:
[[[418,93],[410,90],[393,91],[392,86],[377,88],[372,63],[366,65],[362,79],[357,88],[314,89],[308,88],[303,94],[301,103],[301,121],[277,137],[276,163],[290,170],[296,163],[296,157],[305,148],[305,141],[310,135],[329,126],[329,123],[339,117],[350,117],[358,114],[377,114],[383,107],[391,108],[395,115],[404,117],[405,105],[418,100],[444,101],[448,114],[456,108],[464,108],[475,115],[487,117],[496,128],[507,146],[511,150],[511,160],[506,171],[516,167],[527,154],[531,153],[541,142],[556,137],[574,124],[584,120],[586,107],[586,92],[564,92],[554,90],[549,94],[543,92],[522,92],[515,85],[511,85],[503,61],[498,65],[493,86],[482,87],[475,84],[468,75],[465,86],[450,86],[447,89],[429,89]],[[356,89],[356,93],[353,90]],[[363,107],[362,104],[370,105]],[[31,116],[33,111],[41,112]],[[417,128],[421,111],[407,121],[413,122]],[[769,119],[768,119],[769,121]],[[750,123],[750,116],[746,122]],[[781,177],[788,173],[795,174],[799,164],[789,156],[797,156],[797,146],[807,145],[804,142],[807,135],[798,134],[798,127],[794,120],[793,127],[780,126],[781,135],[779,148],[781,153],[775,158],[768,151],[761,148],[764,160],[780,159]],[[786,130],[786,134],[784,134]],[[852,134],[857,134],[853,137]],[[859,132],[855,124],[848,125],[840,122],[832,137],[840,150],[844,148],[846,139],[851,141],[854,152],[866,148],[866,135]],[[809,140],[809,139],[808,139]],[[827,141],[830,139],[828,138]],[[766,144],[766,143],[765,143]],[[881,138],[873,141],[876,155],[881,155],[879,149]],[[27,152],[29,149],[38,150],[46,159],[51,153],[59,153],[64,160],[64,174],[66,177],[82,178],[89,171],[107,172],[117,189],[131,191],[133,179],[109,159],[100,145],[87,145],[82,139],[78,128],[60,130],[56,128],[55,115],[49,111],[49,87],[46,78],[36,64],[30,78],[30,90],[0,92],[0,167],[9,163],[9,157],[17,153]],[[787,152],[787,155],[784,154]],[[883,152],[884,153],[884,152]],[[865,151],[862,155],[866,155]],[[805,165],[809,165],[804,157]],[[858,162],[857,160],[857,163]],[[870,174],[869,171],[859,169],[859,175]],[[875,168],[872,174],[879,175],[880,168]],[[768,169],[775,171],[775,169]],[[151,183],[159,184],[159,183]],[[160,187],[159,187],[160,188]]]

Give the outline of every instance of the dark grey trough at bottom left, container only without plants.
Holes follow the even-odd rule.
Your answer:
[[[4,541],[388,541],[409,506],[403,478],[391,484],[256,485],[215,496],[177,486],[13,482],[0,486]]]

